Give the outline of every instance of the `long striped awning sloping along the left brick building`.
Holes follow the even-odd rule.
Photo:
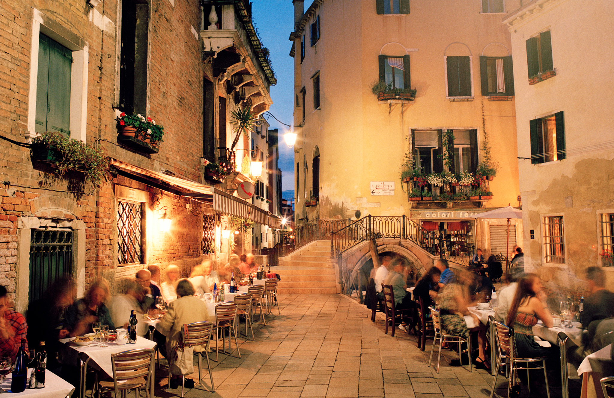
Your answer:
[[[153,170],[109,158],[119,175],[144,183],[177,196],[194,197],[213,205],[213,210],[225,215],[247,218],[255,223],[280,228],[281,218],[213,186],[161,174]]]

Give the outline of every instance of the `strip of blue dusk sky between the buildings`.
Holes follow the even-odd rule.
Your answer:
[[[305,10],[313,0],[305,1]],[[286,124],[293,124],[294,67],[290,57],[292,42],[288,39],[294,30],[294,6],[292,0],[254,0],[252,13],[262,44],[271,52],[273,71],[277,76],[277,85],[271,86],[270,113]],[[266,117],[266,115],[265,115]],[[269,118],[271,129],[279,129],[279,168],[282,173],[281,189],[284,198],[294,197],[294,153],[283,139],[287,127],[273,118]],[[289,191],[289,192],[287,192]]]

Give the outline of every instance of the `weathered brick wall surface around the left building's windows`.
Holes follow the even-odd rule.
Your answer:
[[[198,1],[153,0],[149,38],[149,115],[165,126],[157,155],[142,155],[117,145],[113,105],[116,95],[117,2],[105,0],[95,10],[83,0],[0,2],[0,135],[25,142],[33,9],[88,45],[87,142],[109,156],[177,177],[200,181],[202,156],[202,76]],[[105,19],[106,18],[106,19]],[[102,22],[101,22],[102,21]],[[82,189],[82,177],[58,177],[44,165],[33,166],[28,148],[0,139],[0,285],[15,292],[20,216],[81,220],[85,223],[85,283],[111,277],[117,267],[117,180]],[[34,168],[36,167],[36,169]],[[126,179],[124,179],[126,180]],[[2,185],[8,181],[9,185]],[[129,180],[128,180],[129,181]],[[122,185],[147,188],[135,182]],[[80,192],[82,191],[82,192]],[[171,194],[166,194],[173,197]],[[201,217],[187,214],[185,199],[169,206],[174,228],[160,242],[148,242],[150,262],[189,263],[200,256]],[[188,261],[189,260],[189,261]],[[188,267],[188,268],[189,268]],[[188,272],[186,269],[185,272]]]

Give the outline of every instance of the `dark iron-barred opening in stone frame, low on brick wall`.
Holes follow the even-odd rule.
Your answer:
[[[41,299],[61,276],[72,274],[72,242],[70,230],[31,231],[29,302]]]

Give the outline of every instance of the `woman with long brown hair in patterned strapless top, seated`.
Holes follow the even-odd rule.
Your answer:
[[[535,342],[533,326],[542,320],[544,326],[553,327],[552,314],[546,304],[542,281],[535,274],[526,274],[518,281],[516,294],[510,305],[506,323],[514,328],[518,355],[522,358],[553,356],[553,347]],[[556,354],[558,355],[558,354]]]

